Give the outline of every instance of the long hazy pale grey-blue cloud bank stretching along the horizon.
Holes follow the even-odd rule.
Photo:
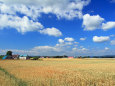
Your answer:
[[[114,55],[115,50],[107,49],[87,49],[87,48],[67,48],[57,46],[36,46],[31,50],[18,50],[18,49],[0,49],[0,54],[5,55],[8,50],[13,51],[13,54],[28,54],[28,55],[39,55],[39,56],[57,56],[57,55],[68,55],[68,56],[101,56],[101,55]]]

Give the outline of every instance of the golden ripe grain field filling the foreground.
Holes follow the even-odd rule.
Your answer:
[[[115,86],[115,59],[0,60],[0,86]]]

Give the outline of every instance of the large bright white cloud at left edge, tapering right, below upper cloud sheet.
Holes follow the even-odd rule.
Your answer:
[[[39,22],[29,20],[28,17],[18,17],[6,14],[0,14],[0,29],[7,27],[15,28],[18,32],[24,34],[29,31],[39,31],[43,29],[43,25]]]

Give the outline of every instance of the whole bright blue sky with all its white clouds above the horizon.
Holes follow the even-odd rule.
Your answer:
[[[115,0],[0,2],[0,54],[115,53]]]

